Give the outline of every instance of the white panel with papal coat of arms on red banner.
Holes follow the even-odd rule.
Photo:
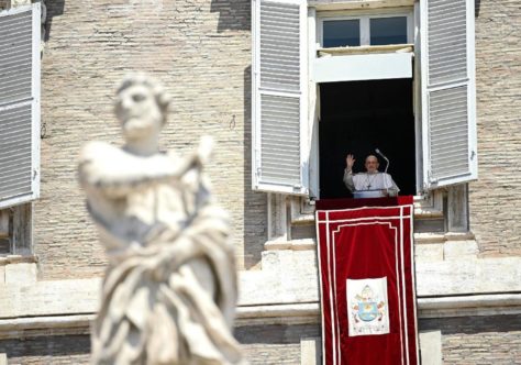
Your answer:
[[[350,336],[389,333],[387,278],[347,279]]]

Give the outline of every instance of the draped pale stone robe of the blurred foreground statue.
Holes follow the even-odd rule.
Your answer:
[[[95,364],[237,364],[236,272],[226,214],[193,167],[123,197],[121,222],[89,210],[110,267],[92,328]],[[154,209],[155,219],[141,218]],[[124,228],[124,229],[122,229]]]

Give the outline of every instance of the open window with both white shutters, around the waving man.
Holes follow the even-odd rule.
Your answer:
[[[477,178],[472,0],[421,0],[414,8],[369,12],[341,11],[336,2],[329,11],[314,2],[320,11],[310,9],[308,25],[301,18],[299,22],[299,32],[309,36],[309,43],[296,35],[290,40],[282,31],[291,23],[282,15],[285,7],[296,11],[302,7],[298,3],[254,3],[254,189],[308,193],[309,186],[310,196],[345,197],[342,170],[336,175],[345,154],[356,154],[362,169],[364,155],[376,147],[391,157],[389,173],[401,193],[419,195]],[[297,13],[292,16],[296,22]],[[297,53],[297,47],[300,92],[292,97],[299,96],[300,104],[290,111],[289,106],[279,108],[285,100],[275,106],[267,98],[269,93],[287,97],[282,93],[287,90],[263,85],[263,78],[277,84],[296,75],[285,67],[296,67],[289,60],[297,58],[284,57],[290,49]],[[306,48],[308,62],[301,54]],[[300,129],[295,123],[287,126],[286,114],[278,114],[281,110],[292,115],[292,122],[298,119]],[[290,152],[296,141],[300,150]],[[273,161],[267,159],[270,155]],[[267,166],[273,167],[269,185],[263,184]],[[292,182],[300,179],[293,191],[285,182],[289,166],[296,177]],[[335,173],[330,175],[331,170]]]

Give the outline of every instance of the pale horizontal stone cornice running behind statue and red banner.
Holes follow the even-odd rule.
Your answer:
[[[320,323],[314,252],[268,251],[241,272],[237,325]],[[417,263],[419,318],[521,313],[521,257]],[[88,333],[100,278],[0,285],[0,339]],[[49,332],[51,331],[51,332]]]

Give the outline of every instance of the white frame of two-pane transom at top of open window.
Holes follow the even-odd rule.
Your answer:
[[[348,14],[346,14],[348,13]],[[361,34],[361,45],[359,47],[370,47],[370,19],[383,19],[383,18],[397,18],[404,16],[407,18],[407,44],[413,43],[414,40],[414,16],[413,9],[375,9],[373,11],[359,12],[356,10],[345,10],[336,12],[319,12],[317,13],[317,35],[320,48],[328,49],[330,47],[324,47],[323,38],[323,26],[324,22],[328,21],[337,21],[337,20],[359,20],[359,34]],[[332,48],[332,47],[331,47]],[[350,47],[350,48],[356,48]]]

